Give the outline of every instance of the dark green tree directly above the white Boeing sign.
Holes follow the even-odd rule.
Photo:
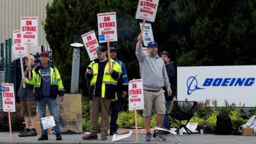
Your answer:
[[[179,66],[253,65],[256,1],[173,1]]]

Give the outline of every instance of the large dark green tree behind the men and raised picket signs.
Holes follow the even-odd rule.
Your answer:
[[[158,42],[159,51],[170,51],[175,55],[176,33],[173,23],[173,10],[171,1],[160,1],[157,16],[153,27],[155,41]],[[70,89],[71,61],[73,50],[70,43],[82,42],[81,35],[94,30],[98,35],[97,13],[115,11],[117,13],[118,42],[111,42],[118,51],[118,58],[125,64],[130,79],[139,78],[139,63],[135,57],[135,44],[139,34],[139,22],[135,19],[138,0],[54,0],[46,6],[46,20],[44,29],[46,39],[53,51],[54,65],[58,67],[65,89]],[[176,31],[176,32],[175,32]],[[171,45],[171,47],[170,47]],[[81,78],[84,76],[86,66],[90,59],[83,49],[81,51]],[[80,86],[84,82],[81,81]]]

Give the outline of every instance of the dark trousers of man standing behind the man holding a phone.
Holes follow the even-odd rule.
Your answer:
[[[118,113],[120,111],[120,102],[121,98],[118,98],[116,101],[111,101],[110,108],[111,108],[111,120],[110,120],[110,133],[116,132],[118,129],[118,125],[116,124]]]

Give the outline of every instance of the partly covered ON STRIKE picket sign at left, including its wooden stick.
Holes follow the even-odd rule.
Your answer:
[[[12,39],[13,39],[14,57],[20,58],[21,76],[22,76],[22,79],[25,79],[22,57],[24,57],[26,55],[26,49],[25,49],[25,46],[21,44],[20,30],[12,31]],[[25,87],[26,87],[26,85],[23,84],[23,88],[25,88]]]

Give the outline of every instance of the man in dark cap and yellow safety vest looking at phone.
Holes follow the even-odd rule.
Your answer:
[[[117,80],[122,74],[121,66],[111,60],[110,66],[106,57],[106,47],[97,47],[98,59],[95,59],[87,67],[85,77],[90,83],[89,94],[93,97],[90,101],[90,134],[83,135],[84,140],[98,139],[98,119],[101,113],[101,140],[107,140],[109,122],[109,106],[111,99],[117,99]]]

